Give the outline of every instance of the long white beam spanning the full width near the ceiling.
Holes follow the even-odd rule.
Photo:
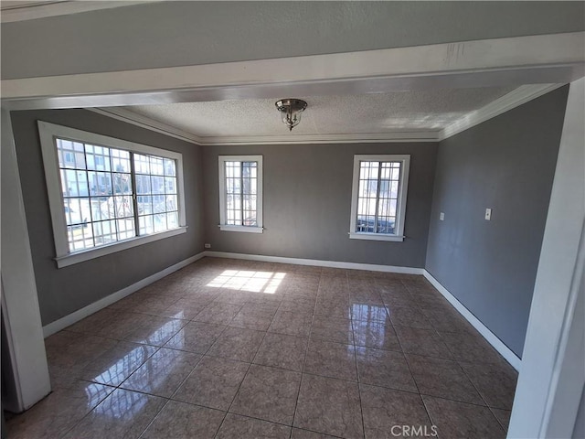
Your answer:
[[[103,107],[567,83],[585,75],[585,33],[286,59],[2,80],[11,110]]]

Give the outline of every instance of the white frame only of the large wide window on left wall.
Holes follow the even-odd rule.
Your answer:
[[[185,189],[183,184],[183,155],[153,146],[136,144],[114,137],[81,131],[68,126],[55,123],[37,121],[38,134],[40,136],[45,177],[47,180],[48,204],[53,224],[53,236],[55,240],[55,261],[58,268],[67,267],[74,263],[89,261],[113,252],[121,252],[148,242],[163,240],[186,232],[185,215]],[[56,138],[75,140],[87,144],[108,146],[117,149],[131,151],[133,153],[157,155],[176,160],[176,185],[178,199],[179,227],[173,230],[165,230],[150,235],[137,236],[128,240],[112,242],[93,249],[80,252],[69,252],[69,240],[67,234],[67,221],[63,210],[63,197],[61,178],[59,175],[58,154]]]

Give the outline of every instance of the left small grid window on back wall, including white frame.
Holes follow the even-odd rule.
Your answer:
[[[221,230],[261,233],[261,155],[220,155],[219,194]]]

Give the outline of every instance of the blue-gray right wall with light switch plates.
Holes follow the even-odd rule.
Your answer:
[[[550,92],[439,145],[426,269],[518,357],[567,93]]]

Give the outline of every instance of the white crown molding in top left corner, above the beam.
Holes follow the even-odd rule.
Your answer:
[[[10,5],[2,6],[0,17],[2,23],[12,23],[15,21],[36,20],[37,18],[46,18],[48,16],[69,16],[70,14],[79,14],[81,12],[97,11],[100,9],[111,9],[112,7],[144,5],[145,3],[154,3],[154,1],[158,0],[112,2],[90,0],[82,2],[69,0],[10,2]]]

